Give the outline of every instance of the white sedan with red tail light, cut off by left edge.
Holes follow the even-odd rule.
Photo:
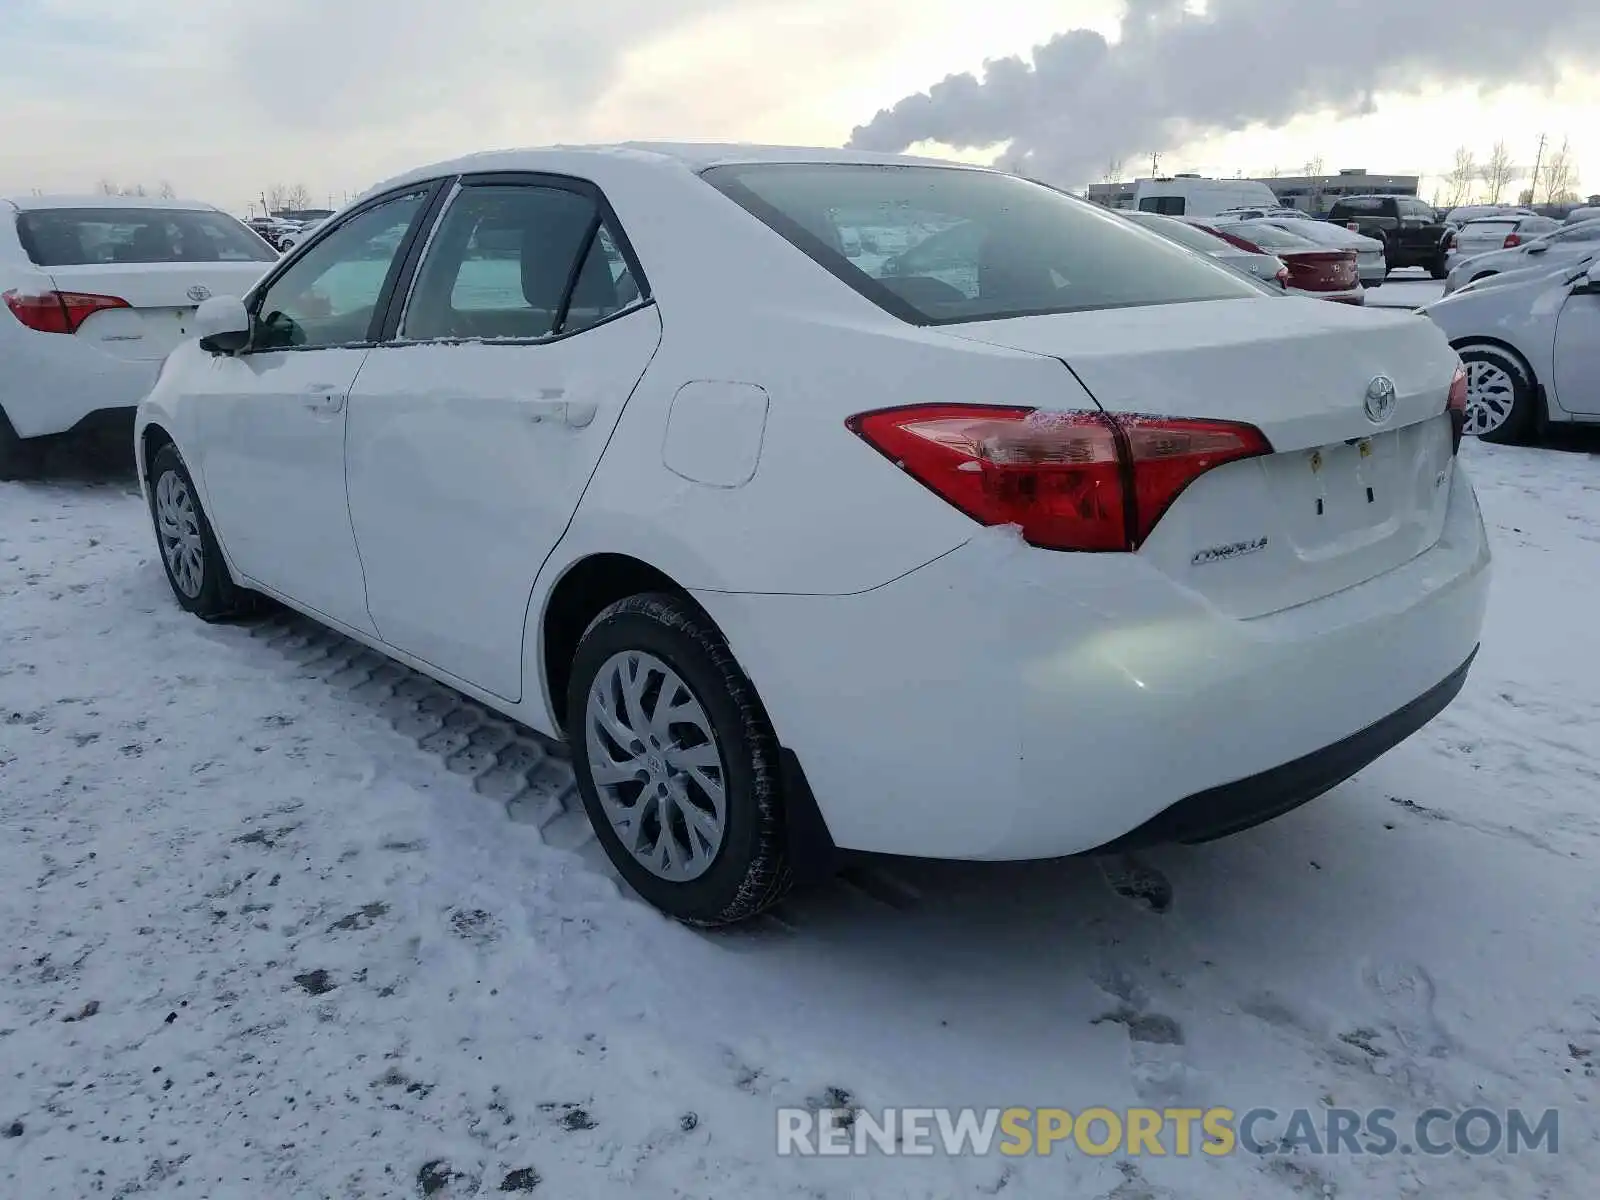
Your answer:
[[[208,296],[250,288],[277,254],[227,213],[182,200],[0,200],[0,478],[40,438],[131,421]]]

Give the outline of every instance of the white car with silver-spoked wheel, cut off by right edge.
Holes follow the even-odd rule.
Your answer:
[[[1600,262],[1523,269],[1426,306],[1467,368],[1466,432],[1528,442],[1544,422],[1600,422]]]

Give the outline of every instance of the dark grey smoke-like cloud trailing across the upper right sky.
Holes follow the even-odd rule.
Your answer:
[[[1074,29],[1030,59],[949,75],[856,126],[850,144],[960,150],[1077,186],[1104,165],[1314,112],[1358,115],[1426,83],[1539,83],[1600,64],[1600,0],[1128,0],[1120,37]],[[1464,136],[1470,131],[1462,131]]]

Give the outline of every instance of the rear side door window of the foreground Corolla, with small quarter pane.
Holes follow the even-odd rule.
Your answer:
[[[462,189],[422,259],[402,336],[538,339],[627,307],[638,286],[597,219],[592,198],[562,187]]]

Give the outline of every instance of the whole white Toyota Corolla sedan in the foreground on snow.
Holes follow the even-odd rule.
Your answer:
[[[565,739],[618,870],[690,922],[838,850],[1245,829],[1477,651],[1434,323],[1010,174],[475,155],[200,325],[136,430],[178,602],[277,597]]]

